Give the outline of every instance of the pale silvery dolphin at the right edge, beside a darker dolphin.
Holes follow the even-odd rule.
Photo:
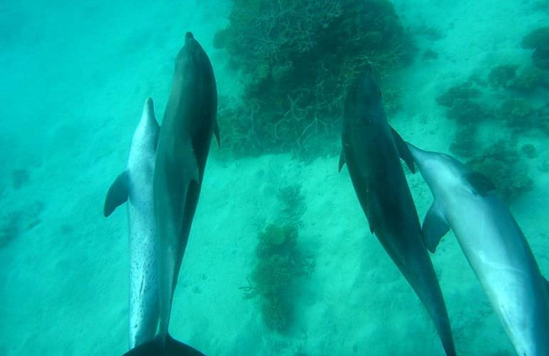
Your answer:
[[[408,147],[434,197],[427,248],[452,229],[517,354],[549,355],[549,284],[494,185],[451,156]]]

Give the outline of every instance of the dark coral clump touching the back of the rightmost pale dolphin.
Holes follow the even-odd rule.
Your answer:
[[[507,203],[513,202],[520,194],[530,191],[533,187],[528,165],[520,160],[517,150],[513,150],[504,141],[496,142],[467,164],[473,170],[486,174]]]

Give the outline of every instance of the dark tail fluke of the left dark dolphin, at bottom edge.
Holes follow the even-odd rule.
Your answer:
[[[160,335],[153,340],[134,347],[126,352],[124,356],[204,356],[204,354],[194,347],[183,342],[175,340],[170,334],[166,335],[165,340]]]

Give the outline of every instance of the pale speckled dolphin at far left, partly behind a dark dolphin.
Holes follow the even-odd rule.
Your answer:
[[[153,214],[153,171],[158,122],[153,100],[147,98],[133,133],[130,157],[105,199],[103,213],[111,215],[128,201],[130,245],[130,348],[152,339],[158,326],[158,262]]]

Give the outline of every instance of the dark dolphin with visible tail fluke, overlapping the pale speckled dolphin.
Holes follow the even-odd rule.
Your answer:
[[[173,293],[193,223],[212,135],[219,144],[217,87],[210,59],[192,33],[175,58],[153,177],[160,316],[153,340],[128,355],[202,355],[168,333]]]

